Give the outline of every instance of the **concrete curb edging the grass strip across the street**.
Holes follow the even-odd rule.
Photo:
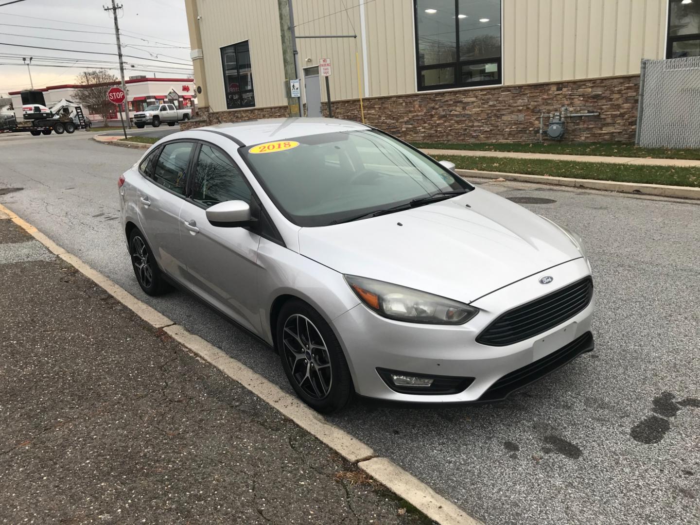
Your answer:
[[[552,186],[569,186],[571,188],[587,188],[589,190],[633,193],[635,195],[656,195],[658,197],[700,200],[700,188],[689,188],[688,186],[662,186],[661,184],[595,181],[593,179],[567,179],[566,177],[547,177],[542,175],[479,172],[472,169],[456,169],[455,171],[466,179],[472,176],[484,179],[505,179],[506,181],[533,182]]]

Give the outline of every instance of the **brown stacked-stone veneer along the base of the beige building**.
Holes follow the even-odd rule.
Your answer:
[[[568,106],[565,141],[634,141],[639,76],[493,86],[364,99],[365,122],[407,141],[530,142],[539,140],[540,113]],[[357,99],[333,102],[333,116],[360,120]],[[323,104],[324,114],[327,114]],[[286,106],[209,113],[183,129],[218,122],[285,117]],[[545,137],[545,140],[548,140]]]

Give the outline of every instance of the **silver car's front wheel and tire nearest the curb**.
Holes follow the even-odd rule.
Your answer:
[[[311,408],[338,412],[353,394],[342,348],[325,319],[301,300],[286,302],[277,316],[276,346],[292,388]]]

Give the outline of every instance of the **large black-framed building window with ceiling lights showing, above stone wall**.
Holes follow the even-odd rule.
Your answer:
[[[500,0],[414,0],[414,9],[419,90],[500,84]]]

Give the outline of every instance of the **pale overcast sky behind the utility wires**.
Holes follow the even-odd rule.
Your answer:
[[[9,0],[0,0],[0,4],[6,1]],[[29,74],[27,66],[22,63],[22,57],[34,57],[31,62],[31,78],[36,88],[76,83],[76,76],[81,71],[97,69],[102,64],[94,61],[113,62],[102,66],[114,68],[111,73],[118,77],[112,13],[102,9],[108,3],[111,6],[111,0],[24,0],[0,7],[0,96],[6,95],[8,91],[29,88]],[[124,55],[139,57],[125,57],[125,77],[143,74],[154,76],[154,73],[160,77],[191,76],[192,67],[188,65],[191,64],[190,39],[184,1],[120,0],[118,3],[124,6],[119,11],[119,28],[123,32],[122,52]],[[58,51],[56,48],[102,51],[115,55]],[[147,58],[163,62],[146,60]],[[132,67],[131,64],[137,65]]]

